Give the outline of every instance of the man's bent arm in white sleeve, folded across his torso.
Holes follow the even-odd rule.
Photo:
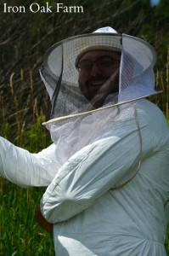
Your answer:
[[[91,207],[109,189],[135,177],[140,162],[168,144],[164,117],[148,107],[145,102],[136,114],[132,113],[134,108],[128,109],[121,119],[112,122],[105,137],[82,148],[60,167],[40,203],[48,222],[67,220]]]

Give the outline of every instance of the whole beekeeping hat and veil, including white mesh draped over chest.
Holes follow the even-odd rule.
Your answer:
[[[121,63],[88,101],[79,88],[77,64],[84,53],[93,49],[118,52]],[[154,64],[155,50],[148,43],[119,34],[111,27],[67,38],[48,49],[40,73],[52,105],[51,120],[46,125],[54,143],[59,145],[61,162],[99,136],[118,115],[121,104],[155,94]],[[104,93],[104,86],[112,83],[116,75],[119,91]],[[95,109],[94,103],[100,95],[104,95],[104,102]]]

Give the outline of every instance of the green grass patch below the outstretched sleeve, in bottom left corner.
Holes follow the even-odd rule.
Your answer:
[[[34,219],[44,189],[23,189],[0,180],[0,255],[54,256],[53,237]]]

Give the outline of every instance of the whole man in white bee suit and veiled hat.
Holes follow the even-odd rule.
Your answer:
[[[40,209],[56,255],[166,255],[169,131],[155,50],[110,27],[54,44],[42,79],[54,141],[31,154],[1,138],[1,175],[47,186]]]

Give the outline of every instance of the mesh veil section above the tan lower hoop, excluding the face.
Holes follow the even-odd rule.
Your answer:
[[[40,69],[42,80],[52,102],[52,119],[71,116],[79,113],[76,108],[82,107],[82,104],[90,105],[79,90],[79,73],[76,63],[85,52],[91,49],[121,52],[118,101],[111,102],[112,106],[158,93],[155,91],[153,72],[156,60],[155,49],[144,40],[126,34],[103,32],[67,38],[48,49]],[[130,72],[131,69],[132,72]],[[61,93],[59,93],[60,88],[64,88]],[[72,102],[64,103],[66,110],[58,114],[58,106],[62,104],[64,97],[68,96],[78,100],[73,100],[73,104]],[[58,99],[59,103],[56,106]],[[87,109],[89,108],[84,107],[81,112],[86,112]]]

